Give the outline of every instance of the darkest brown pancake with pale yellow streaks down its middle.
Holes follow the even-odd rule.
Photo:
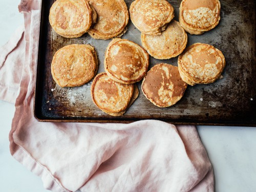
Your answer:
[[[160,63],[154,66],[142,82],[145,97],[159,108],[166,108],[177,103],[187,88],[179,74],[178,68]]]

